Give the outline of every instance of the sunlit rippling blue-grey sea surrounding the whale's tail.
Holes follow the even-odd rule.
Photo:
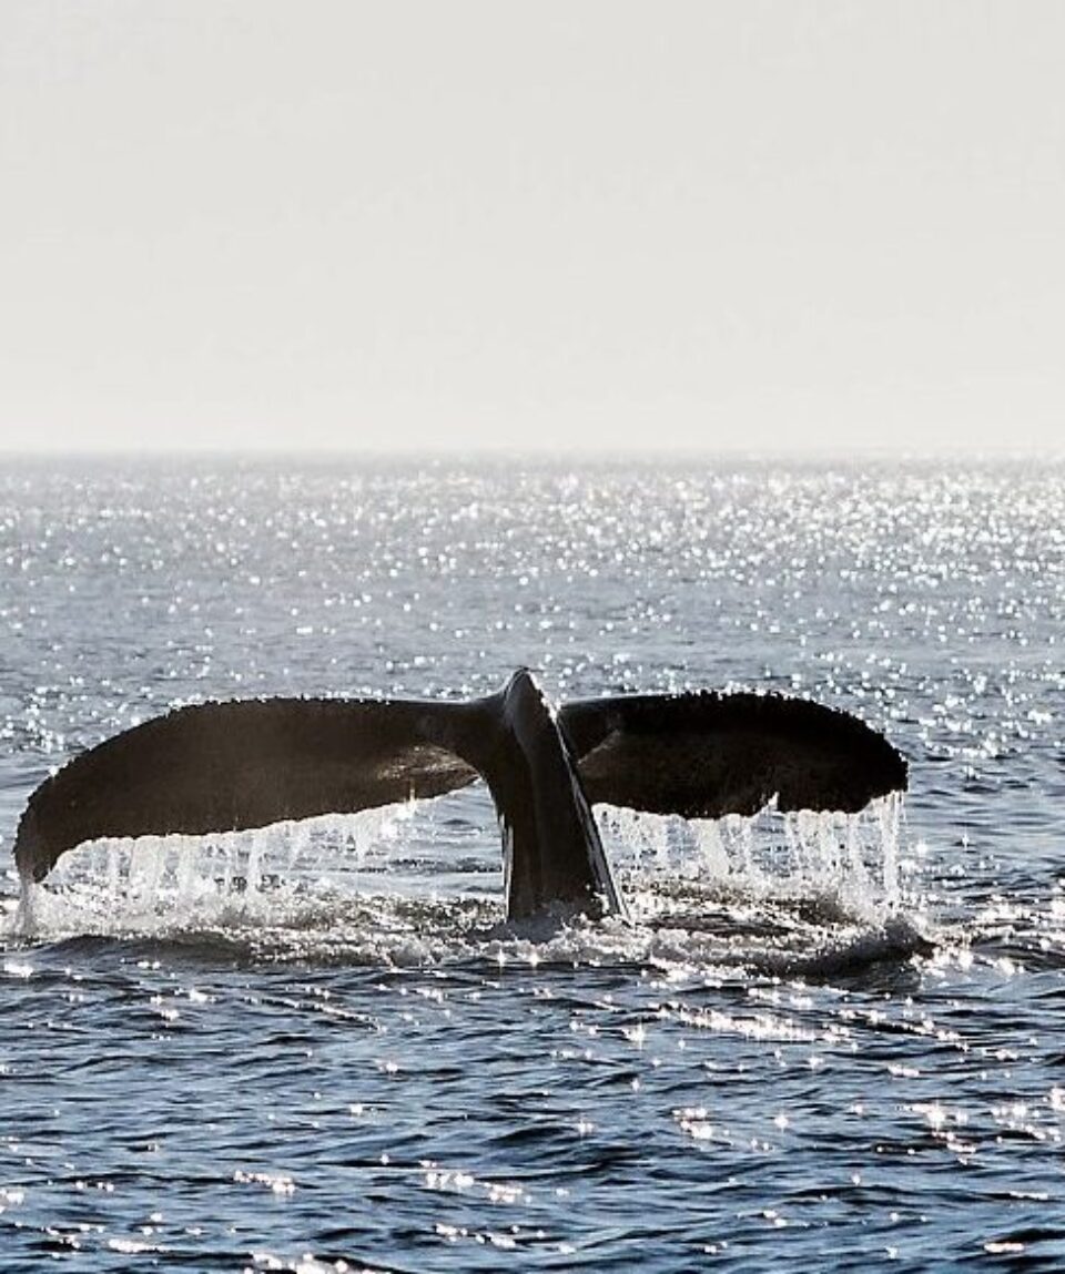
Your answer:
[[[11,462],[0,852],[203,698],[747,687],[855,819],[600,810],[633,924],[502,921],[488,798],[69,855],[0,917],[11,1270],[1065,1266],[1065,465]]]

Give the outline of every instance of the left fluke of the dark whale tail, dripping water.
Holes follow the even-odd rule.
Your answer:
[[[177,708],[83,752],[33,792],[15,861],[41,880],[102,837],[203,834],[440,796],[478,772],[427,736],[454,705],[234,699]]]

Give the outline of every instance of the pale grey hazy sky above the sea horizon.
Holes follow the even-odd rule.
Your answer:
[[[1065,447],[1065,3],[0,0],[0,447]]]

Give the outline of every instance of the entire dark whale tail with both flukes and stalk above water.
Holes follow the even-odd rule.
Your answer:
[[[354,813],[488,784],[507,915],[554,903],[623,912],[591,804],[717,818],[854,812],[906,787],[862,721],[776,694],[632,696],[555,711],[525,669],[470,702],[248,699],[178,708],[108,739],[33,792],[24,879],[102,837],[191,834]]]

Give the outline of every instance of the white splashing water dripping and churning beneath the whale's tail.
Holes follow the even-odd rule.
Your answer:
[[[92,842],[43,884],[23,884],[11,929],[25,941],[208,936],[273,958],[405,966],[836,967],[922,945],[903,915],[916,903],[899,885],[901,808],[888,798],[855,815],[771,806],[685,822],[597,806],[631,924],[504,922],[490,831],[478,859],[456,864],[456,820],[410,801],[255,832]]]

